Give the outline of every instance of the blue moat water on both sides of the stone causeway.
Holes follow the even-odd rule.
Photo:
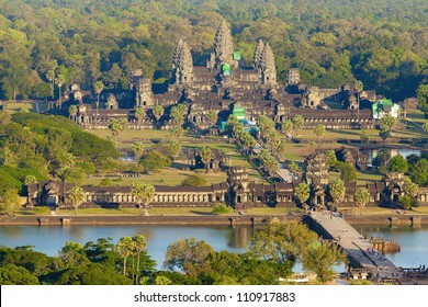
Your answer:
[[[354,226],[362,235],[394,238],[402,251],[387,254],[397,266],[416,268],[428,265],[428,227],[378,227]],[[56,255],[67,241],[86,243],[99,238],[112,238],[116,243],[123,236],[144,235],[147,239],[147,252],[161,268],[168,246],[179,239],[194,237],[205,240],[216,251],[228,250],[243,253],[248,250],[255,232],[252,227],[227,226],[0,226],[0,246],[10,248],[34,246],[35,251]],[[295,268],[300,271],[301,268]],[[340,269],[339,269],[340,270]]]

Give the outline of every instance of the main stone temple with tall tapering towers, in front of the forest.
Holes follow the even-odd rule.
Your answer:
[[[125,118],[128,128],[155,128],[158,121],[154,107],[161,105],[165,114],[160,118],[164,128],[170,125],[171,106],[184,103],[187,106],[184,125],[199,129],[213,128],[207,114],[215,112],[221,122],[227,121],[235,107],[245,110],[248,122],[255,122],[259,115],[267,115],[277,123],[302,115],[306,128],[318,124],[327,128],[370,128],[373,126],[373,91],[356,90],[354,84],[337,89],[320,89],[301,82],[300,71],[290,69],[285,83],[278,81],[274,55],[269,42],[259,41],[251,66],[243,62],[241,55],[234,52],[230,30],[222,22],[205,66],[194,66],[190,46],[178,41],[172,59],[171,79],[167,90],[154,92],[150,80],[142,70],[129,76],[129,91],[121,96],[110,96],[95,107],[83,103],[82,92],[69,91],[65,101],[53,113],[68,114],[70,104],[78,105],[78,114],[72,117],[83,127],[106,128],[110,118]],[[329,109],[326,102],[334,102],[342,109]],[[360,110],[360,105],[368,105]],[[144,116],[137,120],[136,109],[143,109]]]

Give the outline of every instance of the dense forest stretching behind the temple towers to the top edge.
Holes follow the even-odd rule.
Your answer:
[[[136,68],[162,83],[176,41],[187,39],[204,64],[222,19],[246,64],[257,39],[269,42],[282,80],[299,67],[306,83],[361,80],[364,89],[402,100],[416,95],[426,75],[425,0],[4,0],[0,11],[0,95],[7,99],[57,96],[53,72],[63,87],[83,89],[97,81],[126,89]]]

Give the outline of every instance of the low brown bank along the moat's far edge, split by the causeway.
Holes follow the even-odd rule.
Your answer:
[[[0,225],[259,225],[271,218],[301,220],[303,214],[275,215],[156,215],[156,216],[97,216],[41,215],[0,217]],[[428,215],[346,215],[351,225],[418,226],[428,225]]]

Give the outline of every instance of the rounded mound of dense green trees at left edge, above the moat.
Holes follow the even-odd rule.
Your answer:
[[[110,141],[81,130],[65,117],[14,114],[0,125],[0,194],[10,187],[21,191],[29,175],[36,181],[49,175],[71,181],[116,157]]]

